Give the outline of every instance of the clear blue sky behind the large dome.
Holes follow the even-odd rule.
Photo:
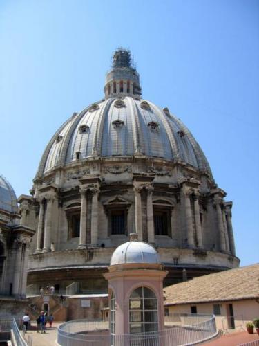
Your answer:
[[[118,46],[233,201],[241,265],[259,262],[258,0],[1,0],[0,173],[28,194],[52,134],[103,98]]]

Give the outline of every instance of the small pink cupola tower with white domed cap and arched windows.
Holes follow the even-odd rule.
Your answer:
[[[115,249],[104,274],[108,280],[111,337],[164,329],[166,274],[155,248],[138,242],[137,233]]]

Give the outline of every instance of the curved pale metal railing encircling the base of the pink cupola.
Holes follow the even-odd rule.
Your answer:
[[[193,345],[217,335],[215,316],[166,316],[165,329],[152,333],[110,335],[108,322],[74,320],[59,326],[61,346],[177,346]]]

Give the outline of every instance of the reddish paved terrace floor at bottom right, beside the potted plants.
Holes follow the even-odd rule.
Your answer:
[[[236,333],[231,333],[227,335],[219,336],[218,338],[215,338],[208,341],[207,343],[204,343],[202,345],[208,345],[208,346],[237,346],[242,343],[249,343],[253,340],[259,340],[259,335],[257,333],[248,334],[247,331],[240,331]],[[258,341],[259,345],[259,341]]]

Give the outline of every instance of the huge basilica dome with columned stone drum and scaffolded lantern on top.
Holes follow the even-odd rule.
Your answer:
[[[166,106],[166,105],[164,105]],[[238,266],[231,201],[198,142],[167,107],[142,98],[131,53],[113,53],[104,99],[73,113],[19,199],[32,240],[28,284],[105,292],[111,264],[148,263],[166,284]],[[137,233],[139,242],[128,242]]]

